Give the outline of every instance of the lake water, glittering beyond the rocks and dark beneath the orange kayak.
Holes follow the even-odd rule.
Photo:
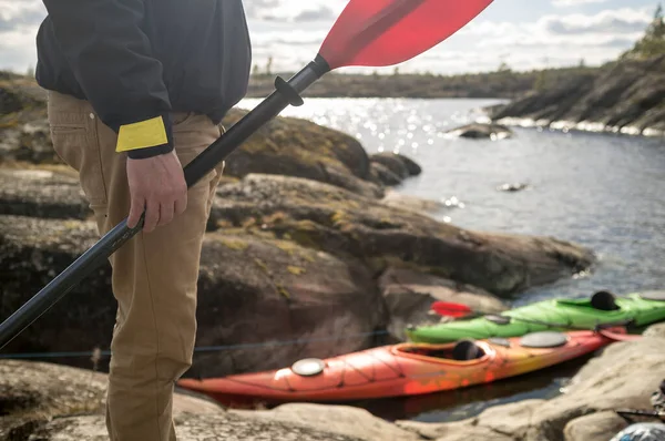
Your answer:
[[[246,99],[241,106],[252,109],[258,102]],[[513,139],[501,141],[456,140],[443,134],[474,121],[481,115],[478,109],[499,102],[307,99],[305,105],[287,107],[282,115],[349,133],[369,153],[393,151],[412,157],[423,173],[398,189],[438,201],[457,197],[463,207],[439,214],[443,222],[471,229],[553,236],[598,255],[591,274],[532,288],[515,298],[514,306],[552,297],[585,297],[598,289],[625,294],[664,288],[665,141],[536,129],[515,129]],[[529,188],[497,191],[514,182],[526,183]],[[466,403],[450,394],[440,394],[439,401],[424,398],[430,406],[405,407],[397,418],[448,421],[524,397],[552,397],[581,365],[570,366],[574,368],[567,371],[549,370],[545,383],[542,372],[513,379],[508,393],[497,386],[471,388],[460,392]],[[498,388],[502,393],[493,397],[491,390]],[[389,418],[401,409],[390,402],[366,407]]]

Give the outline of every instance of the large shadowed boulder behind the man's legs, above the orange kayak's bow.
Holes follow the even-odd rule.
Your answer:
[[[0,267],[7,269],[0,276],[0,317],[16,311],[95,242],[92,223],[0,216]],[[270,234],[207,235],[198,293],[198,346],[315,341],[197,353],[193,375],[276,369],[304,357],[365,349],[374,341],[369,334],[387,321],[365,266]],[[114,319],[110,266],[104,264],[7,350],[105,349]],[[89,366],[85,359],[66,362]]]

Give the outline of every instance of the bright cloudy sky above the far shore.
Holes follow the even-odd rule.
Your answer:
[[[347,2],[244,0],[255,64],[263,70],[273,57],[273,72],[303,68],[316,55]],[[501,63],[518,71],[575,65],[581,60],[597,65],[615,59],[640,39],[657,3],[657,0],[494,0],[467,27],[401,63],[399,69],[456,74],[493,71]],[[41,0],[0,0],[0,69],[25,72],[35,65],[34,38],[45,14]],[[390,66],[377,71],[392,70]],[[339,70],[359,71],[369,70]]]

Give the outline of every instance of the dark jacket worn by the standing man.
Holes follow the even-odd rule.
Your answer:
[[[218,123],[246,93],[252,47],[242,0],[43,0],[37,81],[89,100],[103,123],[121,126],[168,112]]]

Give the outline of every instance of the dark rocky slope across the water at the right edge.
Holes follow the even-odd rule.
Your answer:
[[[665,136],[665,55],[617,61],[487,109],[499,124]]]

